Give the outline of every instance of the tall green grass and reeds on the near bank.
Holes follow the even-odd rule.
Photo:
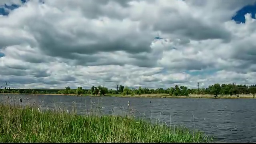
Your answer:
[[[69,114],[0,104],[0,142],[211,142],[180,126],[129,116]]]

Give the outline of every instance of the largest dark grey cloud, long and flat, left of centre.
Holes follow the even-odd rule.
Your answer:
[[[98,52],[114,52],[125,51],[130,54],[138,54],[140,52],[150,52],[151,41],[140,40],[140,36],[136,34],[128,35],[125,38],[119,38],[114,41],[110,41],[108,36],[97,36],[96,34],[86,33],[80,34],[77,38],[71,38],[58,33],[56,28],[47,26],[48,29],[33,30],[35,32],[35,38],[40,44],[41,51],[49,56],[58,56],[69,59],[81,59],[83,56],[77,54],[96,54]],[[81,33],[81,32],[80,32]],[[78,40],[96,40],[96,44],[79,44]],[[93,58],[95,59],[95,58]],[[90,62],[92,60],[89,60]],[[34,60],[34,62],[41,62]]]

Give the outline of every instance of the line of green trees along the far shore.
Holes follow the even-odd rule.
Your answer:
[[[92,86],[90,90],[83,89],[82,87],[78,87],[77,89],[71,89],[70,87],[66,87],[65,89],[10,89],[4,88],[0,89],[2,93],[15,93],[15,94],[86,94],[86,95],[123,95],[123,96],[141,96],[147,94],[168,94],[169,96],[189,96],[189,95],[212,95],[215,98],[218,96],[237,96],[239,95],[252,95],[255,97],[256,94],[256,85],[246,86],[246,85],[236,85],[236,84],[214,84],[208,86],[208,88],[198,88],[198,89],[190,89],[186,86],[174,86],[171,88],[157,88],[157,89],[149,89],[139,87],[128,88],[127,86],[120,85],[116,90],[108,89],[104,86]]]

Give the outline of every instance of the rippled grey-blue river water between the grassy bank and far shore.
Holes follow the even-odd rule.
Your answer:
[[[62,108],[78,114],[132,114],[136,117],[196,129],[215,142],[256,142],[256,99],[119,98],[52,95],[9,95],[12,101],[38,104],[40,109]],[[0,95],[2,102],[7,96]],[[128,101],[130,108],[128,110]],[[87,104],[86,104],[87,103]]]

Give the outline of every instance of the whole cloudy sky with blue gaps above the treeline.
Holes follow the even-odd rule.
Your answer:
[[[0,84],[256,83],[256,0],[1,0]]]

